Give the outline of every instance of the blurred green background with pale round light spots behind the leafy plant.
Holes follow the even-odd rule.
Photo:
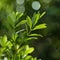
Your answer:
[[[60,0],[0,0],[0,35],[9,33],[4,24],[12,11],[23,12],[24,18],[32,17],[34,12],[46,11],[39,23],[45,22],[47,29],[37,31],[44,37],[30,43],[35,47],[32,55],[42,60],[60,60]]]

